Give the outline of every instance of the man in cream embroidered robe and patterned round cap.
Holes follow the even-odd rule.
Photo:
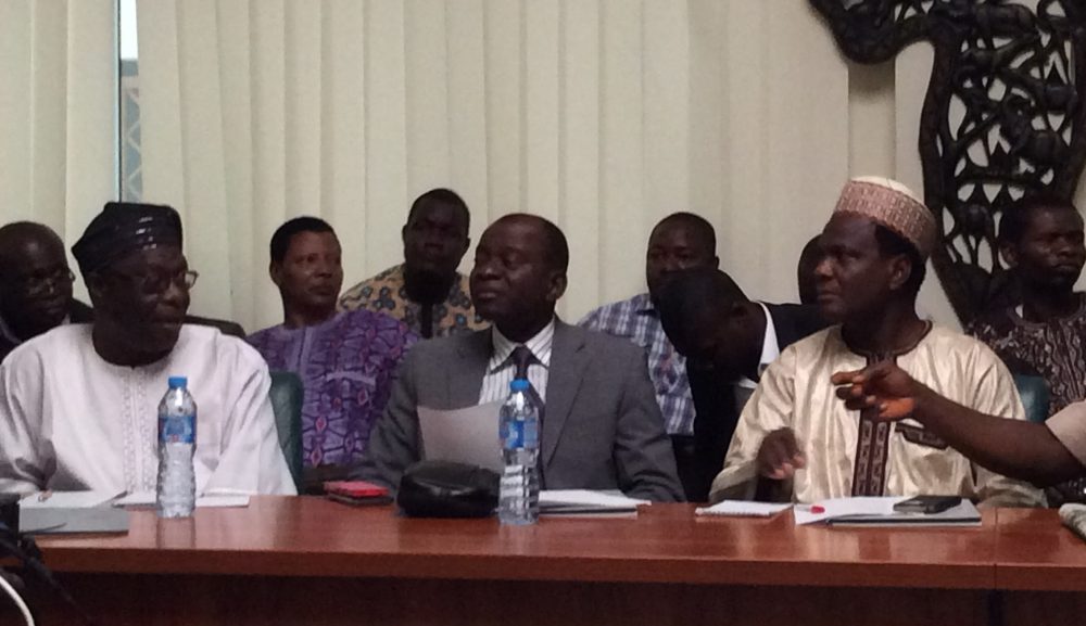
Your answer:
[[[1024,419],[1013,379],[990,349],[917,316],[936,228],[898,182],[862,178],[845,187],[821,234],[816,270],[819,305],[838,324],[793,344],[762,374],[712,499],[929,494],[1043,503],[1037,489],[971,463],[915,420],[879,421],[834,395],[834,372],[889,360],[961,405]]]

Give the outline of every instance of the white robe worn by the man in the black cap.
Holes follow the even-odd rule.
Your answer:
[[[56,328],[0,365],[0,491],[153,491],[157,406],[188,376],[197,403],[197,493],[295,493],[260,354],[217,329],[182,327],[146,367],[104,361],[89,324]]]

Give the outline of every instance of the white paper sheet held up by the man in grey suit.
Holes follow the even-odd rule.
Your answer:
[[[497,435],[501,409],[502,403],[452,411],[419,407],[422,458],[480,465],[501,473],[502,445]]]

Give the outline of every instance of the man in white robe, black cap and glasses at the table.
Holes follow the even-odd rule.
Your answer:
[[[241,340],[185,323],[197,273],[177,212],[106,204],[72,252],[94,320],[0,363],[0,491],[153,491],[157,403],[166,379],[185,375],[199,406],[198,494],[293,494],[264,360]]]

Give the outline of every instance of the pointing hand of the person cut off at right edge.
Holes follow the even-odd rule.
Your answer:
[[[874,408],[883,420],[908,418],[917,409],[922,385],[891,361],[855,372],[837,372],[831,379],[837,397],[854,411]]]

